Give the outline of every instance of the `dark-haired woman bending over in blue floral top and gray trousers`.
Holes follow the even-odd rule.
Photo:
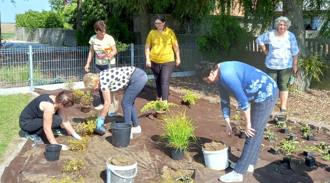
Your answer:
[[[277,84],[259,69],[238,61],[219,64],[203,61],[196,70],[199,80],[215,82],[220,93],[221,109],[226,125],[226,134],[233,136],[230,118],[230,99],[234,97],[245,119],[246,141],[234,170],[221,177],[222,182],[243,181],[247,171],[257,165],[263,132],[279,96]],[[250,107],[251,105],[251,107]]]

